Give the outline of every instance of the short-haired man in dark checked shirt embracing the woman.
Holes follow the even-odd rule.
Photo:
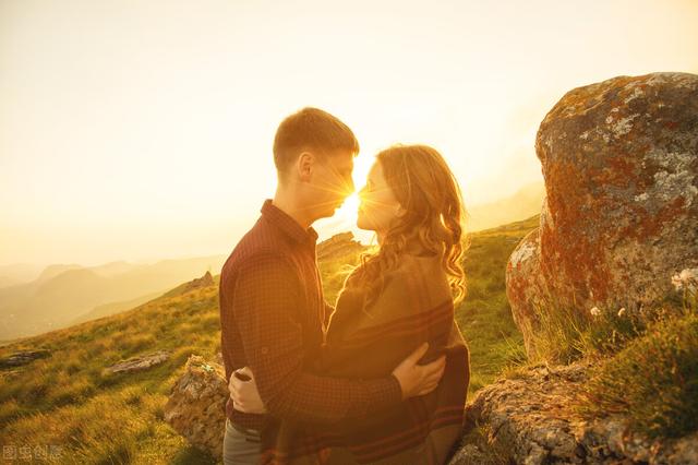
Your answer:
[[[226,377],[234,383],[231,377],[244,379],[254,373],[260,400],[268,410],[242,413],[228,400],[226,465],[264,460],[262,444],[287,440],[278,429],[279,419],[332,424],[362,418],[371,410],[431,392],[443,374],[444,357],[418,365],[426,347],[383,379],[313,374],[332,307],[323,297],[315,257],[317,233],[311,225],[333,216],[353,191],[351,174],[358,152],[351,130],[316,108],[289,116],[277,129],[276,194],[264,202],[262,216],[240,240],[220,275]]]

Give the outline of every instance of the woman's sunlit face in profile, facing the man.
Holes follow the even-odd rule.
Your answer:
[[[377,159],[369,171],[366,184],[359,191],[359,200],[357,226],[360,229],[385,234],[390,224],[402,215],[400,203],[387,184],[383,166]]]

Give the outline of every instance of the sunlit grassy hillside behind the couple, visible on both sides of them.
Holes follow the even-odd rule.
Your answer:
[[[472,235],[465,262],[469,295],[457,309],[471,349],[470,393],[522,354],[504,293],[504,270],[516,243],[537,225],[533,217]],[[336,297],[347,264],[357,259],[321,263],[328,301]],[[0,370],[0,442],[17,449],[55,446],[60,463],[210,463],[163,420],[163,407],[190,354],[213,358],[219,351],[218,312],[216,284],[0,348],[0,357],[20,348],[52,353],[28,366]],[[173,355],[149,371],[104,372],[122,359],[158,349]]]

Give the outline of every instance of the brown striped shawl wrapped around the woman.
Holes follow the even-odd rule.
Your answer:
[[[316,373],[333,378],[389,375],[423,342],[421,363],[446,355],[438,386],[424,396],[330,426],[282,421],[263,463],[442,464],[461,434],[470,378],[468,347],[454,321],[448,282],[436,255],[405,254],[376,299],[345,282],[326,334]]]

